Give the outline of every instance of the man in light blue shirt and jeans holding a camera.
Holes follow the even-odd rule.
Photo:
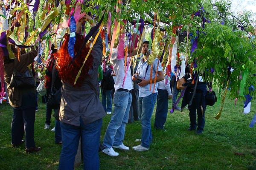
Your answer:
[[[160,61],[158,59],[154,59],[151,65],[149,65],[147,62],[150,54],[148,44],[148,41],[143,42],[143,58],[140,60],[137,71],[132,77],[132,79],[136,80],[140,87],[138,105],[140,124],[142,126],[142,138],[139,140],[141,141],[139,145],[132,147],[137,151],[149,150],[149,145],[152,143],[150,120],[157,99],[158,82],[164,79]],[[155,77],[156,75],[157,77]],[[154,85],[155,80],[156,84]]]

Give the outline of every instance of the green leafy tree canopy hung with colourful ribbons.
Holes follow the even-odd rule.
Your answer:
[[[124,24],[123,20],[128,21],[125,26],[128,32],[133,25],[143,21],[145,25],[160,27],[163,42],[168,45],[170,37],[174,36],[173,28],[177,28],[179,52],[186,55],[187,63],[196,61],[194,69],[205,71],[221,89],[226,88],[227,80],[230,80],[231,97],[239,96],[241,78],[246,69],[250,75],[245,86],[255,85],[255,77],[252,76],[256,73],[253,15],[248,11],[239,15],[231,13],[231,1],[34,0],[24,3],[13,0],[5,5],[9,28],[17,20],[9,31],[21,44],[27,40],[29,45],[35,45],[39,40],[53,42],[58,39],[56,30],[67,25],[70,16],[81,8],[80,13],[91,14],[96,23],[105,13],[103,23],[107,25],[111,20],[111,29],[115,20],[121,24]],[[21,12],[23,15],[18,18]],[[154,21],[156,14],[157,21]],[[85,30],[89,29],[85,25]],[[68,28],[63,30],[67,32]],[[24,33],[24,38],[18,37],[20,33]],[[194,39],[198,42],[197,48],[190,54],[188,51],[193,49]],[[245,90],[247,93],[248,89]]]

